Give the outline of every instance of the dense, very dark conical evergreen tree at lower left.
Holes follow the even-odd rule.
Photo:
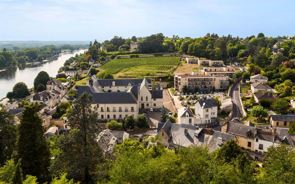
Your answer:
[[[43,135],[45,127],[43,120],[37,114],[41,106],[32,103],[22,112],[22,120],[18,126],[19,136],[16,143],[16,159],[22,159],[24,175],[36,176],[39,182],[49,179],[50,166],[49,145]]]

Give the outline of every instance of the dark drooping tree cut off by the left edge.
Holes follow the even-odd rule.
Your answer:
[[[17,137],[14,117],[6,110],[0,110],[0,166],[11,158]]]

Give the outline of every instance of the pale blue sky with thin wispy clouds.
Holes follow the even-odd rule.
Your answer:
[[[295,34],[295,1],[0,0],[0,40]]]

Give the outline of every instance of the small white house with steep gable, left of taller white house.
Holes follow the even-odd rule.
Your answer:
[[[187,125],[199,125],[202,122],[201,118],[194,115],[189,107],[182,107],[177,110],[177,120],[178,123]]]

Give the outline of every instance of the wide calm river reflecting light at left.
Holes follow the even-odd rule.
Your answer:
[[[49,61],[41,64],[26,64],[21,67],[12,67],[0,72],[0,98],[5,97],[6,93],[12,91],[14,84],[24,82],[28,88],[34,87],[34,79],[42,70],[47,72],[50,77],[55,77],[58,69],[63,66],[64,62],[76,54],[84,53],[86,50],[62,54],[55,56]]]

